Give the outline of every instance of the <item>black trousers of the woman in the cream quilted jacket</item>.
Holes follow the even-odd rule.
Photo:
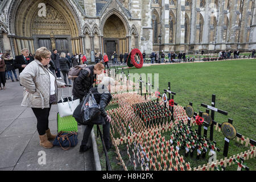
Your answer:
[[[36,125],[36,128],[38,129],[39,135],[46,134],[46,130],[49,129],[49,111],[51,110],[51,104],[49,105],[49,108],[34,108],[32,107],[32,110],[36,116],[36,119],[38,120],[38,123]]]

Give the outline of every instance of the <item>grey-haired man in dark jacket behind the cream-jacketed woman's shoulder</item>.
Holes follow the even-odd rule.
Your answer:
[[[29,63],[29,51],[27,48],[22,49],[22,55],[15,56],[14,67],[19,69],[19,74],[23,71],[26,65]]]

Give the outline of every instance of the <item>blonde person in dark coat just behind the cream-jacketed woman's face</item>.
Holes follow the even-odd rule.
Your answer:
[[[65,84],[72,86],[72,81],[69,78],[68,78],[68,84],[67,84],[68,72],[69,72],[71,65],[69,63],[69,60],[66,57],[65,52],[61,52],[59,62],[60,62],[60,71],[63,74],[63,80],[64,80]]]

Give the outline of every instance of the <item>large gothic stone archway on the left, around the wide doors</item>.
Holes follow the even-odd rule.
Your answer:
[[[46,16],[39,16],[39,3],[46,5]],[[16,55],[23,48],[35,53],[42,46],[50,51],[82,52],[79,20],[65,0],[23,0],[13,6],[17,9],[10,14],[15,17],[10,23]]]

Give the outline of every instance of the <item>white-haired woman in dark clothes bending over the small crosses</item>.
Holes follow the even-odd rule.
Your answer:
[[[109,130],[110,130],[110,116],[106,113],[105,107],[109,104],[112,100],[112,95],[110,94],[110,86],[114,85],[115,81],[113,78],[104,77],[102,82],[98,87],[92,88],[90,91],[93,93],[94,98],[97,104],[100,105],[101,115],[97,117],[97,121],[91,121],[93,123],[97,123],[98,125],[102,125],[103,127],[103,139],[106,146],[106,150],[108,151],[111,147],[110,139],[109,139]],[[99,90],[102,88],[102,90]],[[99,92],[101,91],[101,92]],[[93,129],[93,124],[86,125],[84,130],[84,137],[82,138],[81,146],[79,152],[85,152],[91,146],[88,144],[90,132]]]

